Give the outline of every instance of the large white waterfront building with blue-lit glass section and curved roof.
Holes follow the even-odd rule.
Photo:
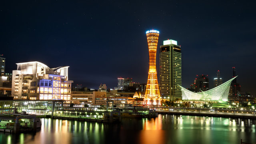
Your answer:
[[[71,100],[72,80],[68,80],[68,67],[49,68],[41,62],[17,63],[12,71],[14,99]]]

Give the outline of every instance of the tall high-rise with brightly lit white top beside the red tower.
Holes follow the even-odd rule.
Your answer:
[[[160,93],[171,100],[181,99],[181,48],[176,40],[165,40],[160,46]],[[180,85],[180,86],[179,86]]]

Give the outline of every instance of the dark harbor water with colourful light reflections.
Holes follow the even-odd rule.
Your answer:
[[[256,120],[161,115],[107,124],[41,118],[36,133],[0,132],[1,144],[240,144],[256,142]]]

